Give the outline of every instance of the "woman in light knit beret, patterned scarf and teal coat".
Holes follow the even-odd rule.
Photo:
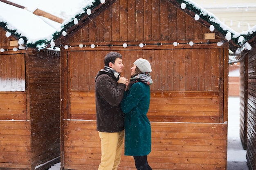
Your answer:
[[[153,83],[148,60],[139,58],[131,68],[131,78],[121,109],[125,113],[124,155],[134,157],[137,170],[152,170],[147,155],[151,151],[151,126],[147,117],[150,101],[149,85]]]

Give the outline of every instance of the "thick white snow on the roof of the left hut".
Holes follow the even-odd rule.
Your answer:
[[[4,2],[0,2],[0,26],[26,44],[48,41],[47,37],[56,31],[37,15]]]

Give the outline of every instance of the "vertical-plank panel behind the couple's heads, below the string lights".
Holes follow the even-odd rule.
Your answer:
[[[121,53],[124,69],[121,76],[130,77],[130,68],[137,58],[150,61],[152,91],[219,91],[220,49],[165,49],[115,50]],[[77,51],[76,51],[77,50]],[[95,75],[103,68],[105,55],[110,51],[79,51],[68,54],[72,91],[94,90]],[[206,55],[207,54],[207,55]],[[179,57],[177,57],[179,56]]]

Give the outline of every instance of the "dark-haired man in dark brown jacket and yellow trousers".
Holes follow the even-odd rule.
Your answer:
[[[95,77],[97,130],[101,138],[98,170],[117,170],[124,140],[124,113],[120,103],[129,81],[120,77],[124,67],[121,54],[108,53],[104,65]]]

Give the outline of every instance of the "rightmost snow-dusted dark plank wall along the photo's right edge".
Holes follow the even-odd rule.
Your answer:
[[[248,56],[248,100],[247,100],[247,161],[251,170],[256,169],[256,40]]]

